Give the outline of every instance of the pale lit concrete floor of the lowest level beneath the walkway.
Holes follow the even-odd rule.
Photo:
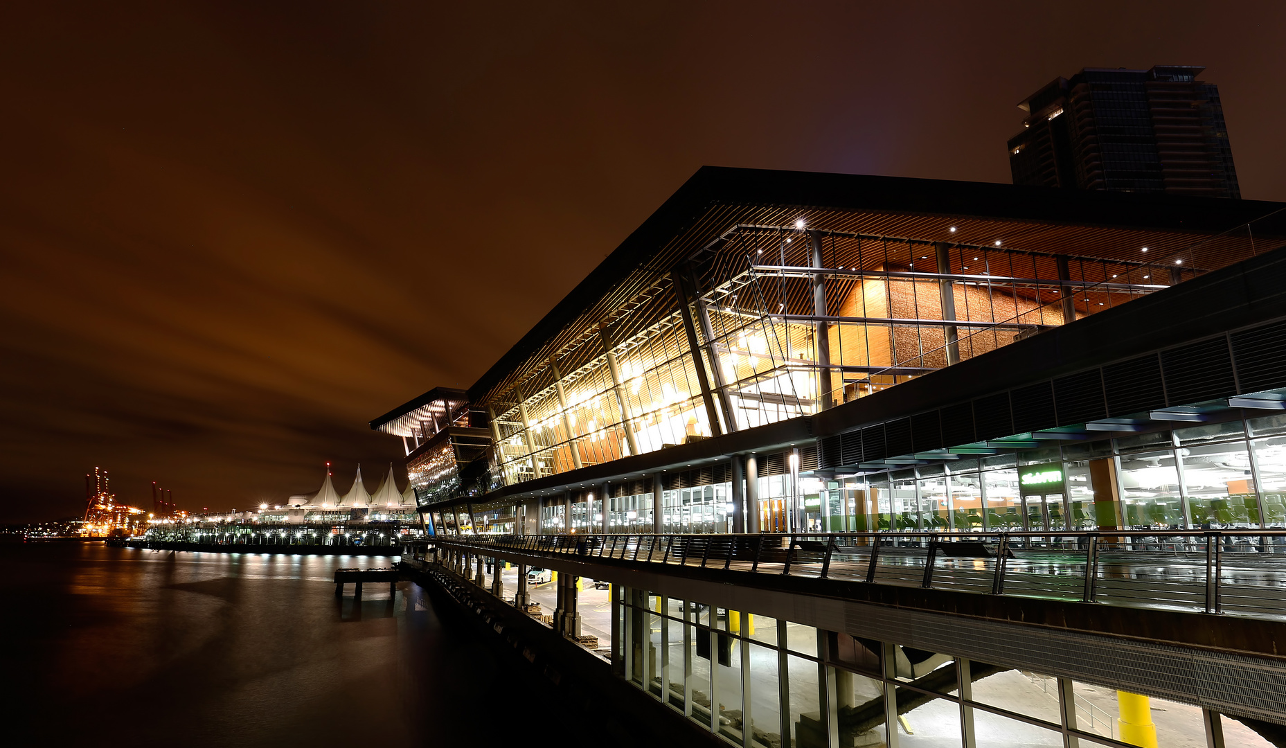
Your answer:
[[[490,585],[491,576],[486,574],[486,580],[487,585]],[[500,580],[504,583],[505,599],[512,600],[518,589],[517,568],[502,569]],[[529,585],[527,591],[531,601],[540,603],[543,613],[553,613],[557,599],[557,583]],[[679,612],[678,605],[678,601],[671,601],[675,614]],[[592,580],[583,580],[579,609],[581,614],[581,634],[598,636],[599,646],[606,649],[611,643],[612,631],[612,607],[608,590],[595,590]],[[745,623],[747,622],[743,621]],[[660,618],[657,618],[652,628],[652,640],[658,652],[661,649],[660,625]],[[683,627],[676,622],[670,622],[670,627],[671,667],[678,667],[679,672],[682,672]],[[755,641],[775,645],[777,621],[755,617],[751,637]],[[790,623],[787,641],[791,650],[811,655],[817,654],[817,632],[809,626]],[[709,682],[709,661],[693,655],[692,662],[693,676],[698,682]],[[790,658],[788,663],[792,684],[801,681],[808,684],[817,682],[817,666],[814,663],[799,658]],[[757,726],[773,733],[777,731],[777,713],[779,709],[777,700],[777,670],[774,652],[759,646],[751,649],[751,715]],[[671,670],[670,680],[678,681],[682,679]],[[739,690],[737,690],[741,684],[739,655],[733,657],[733,667],[719,666],[716,682],[716,703],[727,709],[739,708],[741,695]],[[874,681],[865,681],[860,676],[855,677],[855,702],[862,703],[876,695],[878,693],[877,688]],[[700,688],[700,690],[705,693],[709,689]],[[814,695],[817,691],[815,688],[805,686],[791,690],[792,715],[818,711]],[[1116,691],[1087,684],[1076,684],[1074,690],[1078,695],[1078,718],[1082,730],[1119,738],[1119,729],[1115,725],[1118,716]],[[1058,700],[1055,694],[1056,689],[1052,680],[1015,670],[993,675],[974,685],[974,699],[979,703],[1058,722]],[[1151,700],[1151,706],[1152,721],[1156,724],[1157,743],[1160,745],[1165,748],[1205,748],[1205,733],[1199,707],[1156,698]],[[1091,716],[1093,716],[1093,722],[1091,722]],[[1062,736],[1053,730],[992,715],[983,709],[975,709],[974,720],[979,745],[1003,744],[1006,748],[1062,745]],[[901,733],[901,744],[908,748],[959,745],[959,708],[950,702],[932,700],[910,711],[907,713],[907,725],[910,727],[912,734],[907,734],[901,727],[899,727],[899,731]],[[1229,747],[1271,748],[1271,743],[1232,718],[1223,720],[1223,730],[1226,744]]]

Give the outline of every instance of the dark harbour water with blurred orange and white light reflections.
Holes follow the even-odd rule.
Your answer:
[[[553,709],[432,605],[408,613],[414,585],[336,600],[334,569],[391,560],[0,545],[10,744],[489,744]]]

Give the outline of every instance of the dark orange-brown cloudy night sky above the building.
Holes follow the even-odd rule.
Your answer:
[[[1184,10],[1187,8],[1187,10]],[[1286,3],[8,3],[0,521],[199,510],[401,442],[702,165],[1010,181],[1083,67],[1205,64],[1286,200]]]

